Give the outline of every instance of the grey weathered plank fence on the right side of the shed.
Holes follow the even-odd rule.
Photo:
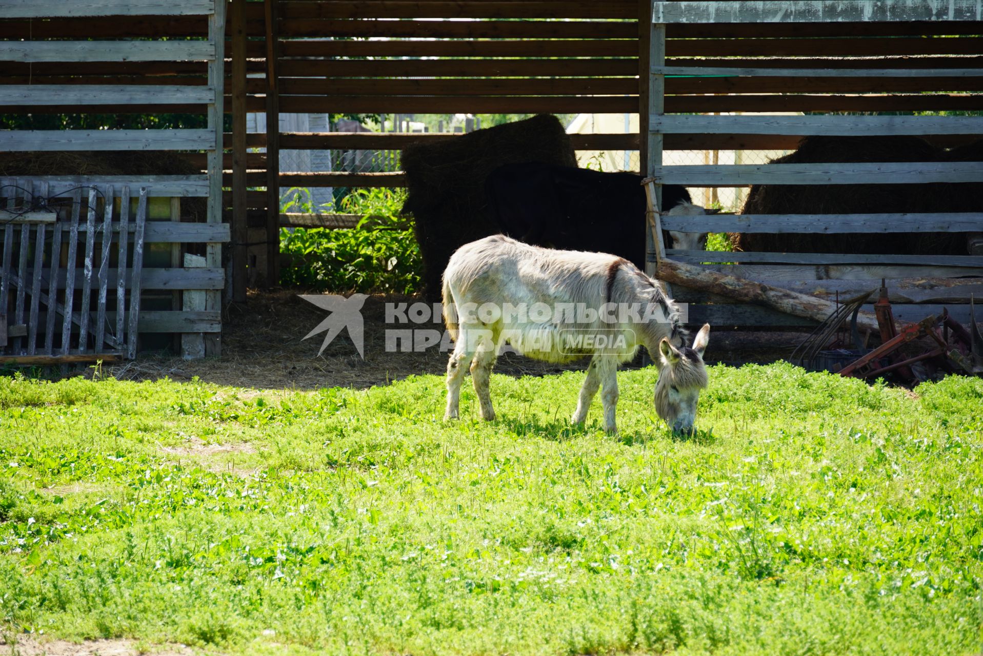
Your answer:
[[[707,93],[717,108],[757,111],[935,111],[981,109],[983,58],[978,56],[983,16],[975,0],[883,3],[874,0],[797,2],[656,2],[647,44],[649,128],[646,171],[655,181],[687,187],[749,185],[926,185],[983,183],[983,162],[817,163],[663,166],[670,139],[687,135],[731,140],[806,136],[919,136],[972,140],[983,118],[968,116],[672,116],[681,89]],[[765,21],[762,24],[761,21]],[[767,27],[770,38],[765,36]],[[688,44],[672,37],[714,36],[706,54],[690,60],[668,55]],[[939,36],[937,38],[936,36]],[[941,38],[941,36],[947,36]],[[823,58],[835,52],[836,59]],[[964,54],[965,53],[965,54]],[[766,55],[767,59],[757,55]],[[856,57],[843,57],[856,55]],[[868,56],[876,55],[875,59]],[[908,55],[932,55],[909,59]],[[763,95],[764,94],[764,95]],[[693,105],[690,105],[692,107]],[[983,231],[983,213],[797,214],[659,217],[665,230],[684,232],[856,234]],[[662,231],[649,232],[650,271],[671,258],[832,300],[855,296],[889,279],[896,317],[918,320],[943,304],[960,321],[970,295],[983,293],[983,256],[855,253],[712,252],[665,249]],[[693,323],[798,326],[806,319],[680,288]],[[873,301],[873,300],[872,300]],[[911,303],[911,304],[903,304]],[[919,303],[919,304],[914,304]]]

